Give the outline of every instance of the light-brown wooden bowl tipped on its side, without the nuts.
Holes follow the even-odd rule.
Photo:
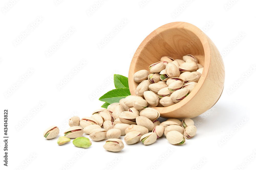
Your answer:
[[[182,59],[192,54],[204,66],[201,78],[192,92],[182,101],[168,107],[152,107],[166,118],[192,118],[210,109],[218,101],[224,87],[225,70],[219,50],[211,39],[195,25],[186,22],[165,24],[150,33],[136,50],[129,69],[132,95],[139,83],[133,75],[139,70],[169,56]]]

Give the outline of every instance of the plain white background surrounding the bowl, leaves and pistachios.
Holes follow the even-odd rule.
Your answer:
[[[102,1],[92,14],[88,11],[99,0],[10,2],[0,4],[1,168],[255,168],[255,1],[114,0]],[[150,146],[125,144],[121,152],[113,153],[103,149],[104,141],[92,141],[90,148],[82,149],[72,141],[58,146],[58,137],[43,137],[52,125],[62,127],[62,136],[71,116],[90,116],[100,108],[103,102],[98,98],[114,88],[113,74],[128,76],[132,56],[143,39],[175,21],[203,30],[225,63],[223,94],[212,109],[193,119],[198,129],[193,139],[173,146],[162,137]],[[63,38],[70,28],[72,34]],[[114,36],[100,48],[111,33]],[[22,40],[15,43],[18,38]],[[53,48],[58,41],[61,45]],[[52,48],[54,52],[47,56]],[[75,72],[81,61],[87,63]],[[73,77],[59,89],[70,74]],[[13,91],[6,96],[9,89]],[[3,165],[4,109],[9,112],[8,167]]]

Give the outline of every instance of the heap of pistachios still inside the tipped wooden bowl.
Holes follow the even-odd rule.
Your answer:
[[[204,67],[193,55],[183,60],[162,57],[160,62],[151,64],[149,71],[137,71],[133,80],[140,83],[136,95],[144,97],[153,107],[167,107],[184,99],[196,86]]]

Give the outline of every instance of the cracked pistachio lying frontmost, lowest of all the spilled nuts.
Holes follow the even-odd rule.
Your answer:
[[[108,139],[103,148],[111,152],[119,152],[124,149],[124,143],[120,139]]]

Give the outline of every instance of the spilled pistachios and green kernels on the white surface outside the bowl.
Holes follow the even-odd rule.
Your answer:
[[[64,131],[64,136],[59,137],[58,145],[63,145],[75,138],[73,144],[77,147],[88,148],[92,145],[90,141],[105,140],[103,148],[118,152],[124,148],[120,136],[124,136],[127,145],[141,141],[144,145],[154,143],[159,137],[166,136],[169,143],[173,145],[184,145],[186,139],[196,135],[196,127],[191,119],[169,118],[164,122],[157,119],[160,113],[148,107],[149,103],[141,96],[127,96],[112,103],[107,109],[98,109],[92,112],[91,117],[78,116],[69,119],[69,126]],[[103,127],[103,128],[102,128]],[[89,138],[82,137],[89,134]],[[46,139],[52,139],[59,135],[59,128],[51,126],[44,133]]]

